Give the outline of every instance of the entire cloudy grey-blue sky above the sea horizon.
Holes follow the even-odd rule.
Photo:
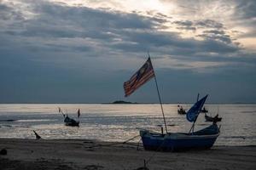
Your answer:
[[[164,102],[256,102],[254,0],[0,0],[0,103],[125,99],[151,55]],[[154,80],[125,100],[158,102]]]

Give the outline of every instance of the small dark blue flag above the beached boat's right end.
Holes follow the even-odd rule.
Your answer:
[[[205,97],[203,97],[202,99],[200,99],[199,101],[197,101],[195,103],[195,105],[193,105],[189,109],[189,111],[187,112],[187,119],[189,122],[195,122],[197,116],[201,112],[201,108],[203,107],[203,105],[206,102],[207,97],[208,97],[208,94]]]

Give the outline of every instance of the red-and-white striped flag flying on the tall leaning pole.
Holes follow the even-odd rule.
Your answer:
[[[125,97],[132,94],[137,88],[140,88],[145,82],[154,77],[154,69],[148,57],[146,63],[138,70],[129,81],[124,82]]]

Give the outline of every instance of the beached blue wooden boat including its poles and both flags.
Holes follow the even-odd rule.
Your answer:
[[[156,89],[160,99],[158,84],[156,81],[150,56],[148,56],[148,60],[146,61],[146,63],[130,78],[130,80],[124,83],[125,97],[132,94],[137,88],[141,87],[143,83],[148,82],[148,80],[150,80],[152,77],[154,77]],[[193,125],[190,128],[189,133],[168,133],[166,127],[166,118],[160,99],[160,107],[163,115],[164,124],[166,127],[166,133],[163,132],[163,128],[161,130],[161,133],[152,132],[147,129],[141,129],[140,136],[143,141],[144,149],[158,151],[174,151],[195,148],[211,148],[220,133],[219,127],[216,124],[216,122],[213,122],[212,125],[210,125],[209,127],[205,127],[197,132],[194,132],[195,122],[201,112],[203,105],[206,102],[207,96],[208,95],[198,100],[198,94],[195,105],[193,105],[189,109],[189,111],[186,112],[187,120],[189,122],[193,122]]]

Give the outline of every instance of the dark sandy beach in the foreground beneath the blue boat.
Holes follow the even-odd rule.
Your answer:
[[[154,152],[95,140],[0,139],[0,169],[255,169],[255,146]]]

